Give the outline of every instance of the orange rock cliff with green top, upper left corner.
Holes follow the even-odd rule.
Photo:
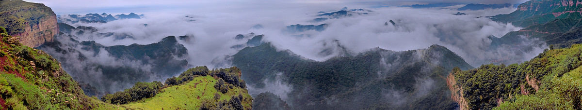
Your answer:
[[[22,0],[0,1],[0,27],[11,36],[20,36],[20,43],[29,47],[52,41],[58,33],[56,14],[42,3]]]

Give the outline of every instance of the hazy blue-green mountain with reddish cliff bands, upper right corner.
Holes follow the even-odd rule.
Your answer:
[[[509,32],[492,44],[519,44],[521,36],[539,38],[548,45],[567,47],[580,43],[576,32],[582,30],[582,1],[528,1],[510,14],[499,14],[492,20],[524,27]],[[492,45],[496,46],[496,45]]]

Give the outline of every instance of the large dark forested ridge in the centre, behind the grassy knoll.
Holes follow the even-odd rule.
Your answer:
[[[473,68],[438,45],[405,52],[377,48],[319,62],[263,43],[240,50],[232,61],[257,90],[275,92],[285,88],[273,83],[289,84],[289,93],[277,95],[288,97],[283,100],[293,109],[453,109],[443,76],[453,67]]]

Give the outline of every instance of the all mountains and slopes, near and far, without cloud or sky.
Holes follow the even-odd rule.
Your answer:
[[[105,46],[80,37],[135,38],[71,25],[143,14],[70,14],[57,21],[40,3],[2,0],[0,6],[0,26],[6,27],[0,28],[0,109],[582,109],[579,1],[527,1],[512,13],[488,17],[523,27],[501,38],[487,37],[491,49],[531,50],[523,43],[548,49],[523,63],[477,68],[441,45],[352,53],[334,41],[330,45],[337,49],[316,53],[341,54],[315,61],[254,33],[233,35],[241,42],[227,46],[237,50],[225,58],[229,68],[208,68],[186,60],[189,51],[181,42],[197,39],[191,35]],[[457,10],[513,6],[468,4]],[[370,12],[320,12],[309,23]],[[325,31],[329,25],[295,24],[282,31],[309,38],[304,32]]]

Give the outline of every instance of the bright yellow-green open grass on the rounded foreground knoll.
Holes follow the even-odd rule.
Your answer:
[[[245,109],[251,109],[252,98],[246,89],[234,87],[228,93],[222,94],[214,88],[217,79],[211,76],[199,76],[188,83],[171,86],[161,90],[155,97],[139,102],[132,102],[122,107],[134,109],[200,109],[202,101],[214,100],[214,94],[221,94],[219,100],[230,100],[230,96],[243,93],[242,104]],[[190,100],[196,99],[196,100]]]

